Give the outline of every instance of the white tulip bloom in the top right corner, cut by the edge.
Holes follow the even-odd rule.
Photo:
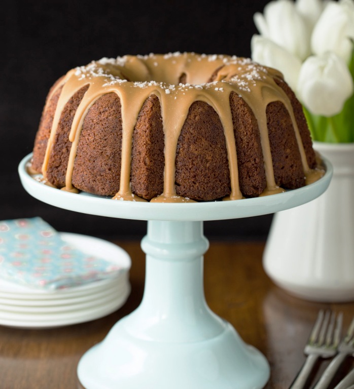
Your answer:
[[[313,28],[312,52],[333,51],[348,63],[353,49],[351,40],[354,40],[354,1],[328,2]]]

